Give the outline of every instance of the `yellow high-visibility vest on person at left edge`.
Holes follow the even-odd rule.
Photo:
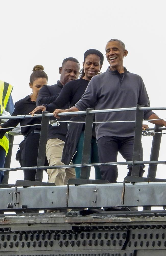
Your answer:
[[[6,106],[9,101],[12,90],[13,86],[11,84],[8,84],[0,80],[0,114],[2,114],[3,110],[6,110]],[[0,146],[4,148],[7,155],[7,152],[9,150],[9,137],[7,132],[5,133],[4,137],[0,139]]]

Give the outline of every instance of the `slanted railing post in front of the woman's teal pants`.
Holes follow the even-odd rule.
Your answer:
[[[94,110],[94,109],[87,109],[87,112],[86,112],[84,144],[83,144],[81,165],[89,164],[89,162],[90,162],[92,126],[93,126],[93,116],[94,116],[93,113],[89,113],[90,110]],[[89,166],[81,167],[80,178],[88,179],[89,172],[90,172]]]

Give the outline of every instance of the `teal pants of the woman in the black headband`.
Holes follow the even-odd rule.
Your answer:
[[[81,164],[83,142],[84,142],[84,132],[82,131],[79,141],[77,143],[77,153],[74,155],[73,160],[72,160],[73,164]],[[93,137],[92,137],[92,141],[91,141],[90,163],[92,163],[92,164],[99,163],[97,143],[96,143],[96,139]],[[95,178],[101,179],[101,173],[100,173],[99,166],[95,166],[94,168],[95,168]],[[81,174],[81,167],[76,167],[75,170],[76,170],[76,179],[79,179],[80,174]],[[90,176],[90,172],[89,172],[89,176]]]

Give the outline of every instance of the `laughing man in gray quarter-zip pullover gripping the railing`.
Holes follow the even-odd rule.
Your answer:
[[[131,108],[137,104],[149,106],[149,97],[144,82],[137,74],[130,73],[123,66],[123,58],[127,56],[127,50],[122,41],[111,39],[105,47],[106,58],[110,67],[106,72],[94,76],[88,84],[85,93],[78,103],[67,110],[55,110],[57,113],[69,111],[82,111],[86,108],[116,109]],[[135,120],[135,111],[120,111],[110,113],[96,113],[96,121],[129,121]],[[151,110],[144,111],[144,119],[158,119]],[[164,120],[151,121],[153,124],[166,125]],[[99,160],[101,163],[116,162],[117,153],[132,161],[134,144],[134,122],[127,123],[97,123],[96,137],[98,144]],[[143,153],[142,153],[143,158]],[[132,166],[128,166],[131,175]],[[102,178],[116,183],[118,176],[117,166],[101,166]],[[140,166],[140,176],[144,173]]]

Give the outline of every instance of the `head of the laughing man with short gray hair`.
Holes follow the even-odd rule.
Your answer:
[[[111,70],[119,70],[123,67],[123,57],[127,55],[127,50],[124,50],[118,41],[108,42],[105,51]]]

